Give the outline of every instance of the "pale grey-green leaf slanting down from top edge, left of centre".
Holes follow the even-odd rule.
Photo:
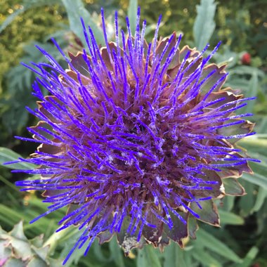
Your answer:
[[[84,44],[84,47],[86,47],[87,44],[84,39],[84,30],[82,28],[81,18],[84,19],[84,24],[86,26],[89,25],[91,27],[98,44],[104,45],[105,39],[103,37],[102,30],[96,22],[93,21],[91,14],[84,7],[82,0],[62,0],[62,2],[67,11],[67,18],[70,22],[70,30],[79,37],[82,44]]]

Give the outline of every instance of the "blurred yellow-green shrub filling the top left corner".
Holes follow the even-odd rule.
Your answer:
[[[55,3],[60,4],[56,0],[1,1],[1,86],[3,86],[3,82],[5,86],[4,73],[9,67],[19,63],[20,57],[23,54],[23,43],[30,40],[43,41],[46,35],[58,30],[58,22],[62,19],[62,16],[58,13],[60,8],[58,4],[48,7],[49,4]],[[44,6],[44,8],[40,8],[40,6]],[[22,25],[23,27],[21,27]]]

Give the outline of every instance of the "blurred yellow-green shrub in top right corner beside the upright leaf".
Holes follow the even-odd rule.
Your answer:
[[[235,52],[249,51],[266,58],[265,10],[266,1],[224,1],[218,6],[216,16],[218,39]]]

